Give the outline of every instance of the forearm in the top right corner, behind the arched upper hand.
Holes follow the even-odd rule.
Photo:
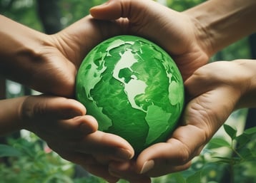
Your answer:
[[[256,31],[255,0],[209,0],[184,11],[199,22],[207,40],[207,53],[212,56],[225,46]],[[204,41],[205,41],[204,40]]]

